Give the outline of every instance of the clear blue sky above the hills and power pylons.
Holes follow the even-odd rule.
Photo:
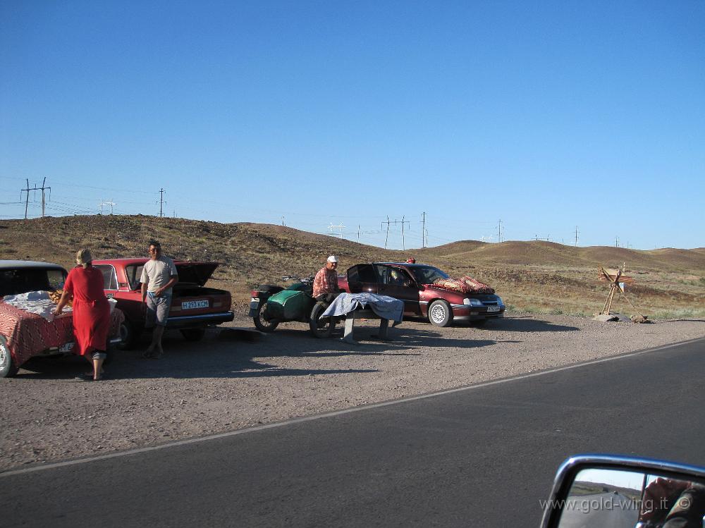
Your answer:
[[[429,245],[703,247],[704,27],[700,0],[2,1],[0,219],[46,177],[54,216],[164,188],[379,246],[396,220],[393,248],[424,212]]]

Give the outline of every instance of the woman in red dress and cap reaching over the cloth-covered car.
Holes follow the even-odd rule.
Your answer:
[[[73,297],[75,347],[78,347],[78,354],[85,357],[93,367],[92,376],[86,379],[98,381],[102,379],[103,361],[106,358],[110,305],[103,291],[103,274],[92,266],[92,260],[89,250],[79,250],[76,253],[78,266],[68,272],[54,314],[61,314],[69,298]]]

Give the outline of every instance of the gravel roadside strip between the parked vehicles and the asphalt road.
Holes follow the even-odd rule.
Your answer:
[[[259,334],[244,316],[188,343],[168,331],[166,356],[118,351],[109,379],[77,381],[77,357],[31,360],[0,380],[0,471],[153,446],[340,410],[705,337],[705,320],[599,323],[508,313],[484,329],[405,321],[359,344],[316,339],[307,326]],[[247,329],[237,331],[235,329]],[[342,329],[338,337],[342,336]],[[145,336],[145,339],[147,336]],[[142,343],[146,346],[146,341]]]

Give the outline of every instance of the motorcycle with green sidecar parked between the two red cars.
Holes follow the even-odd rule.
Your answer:
[[[263,284],[252,290],[248,317],[255,321],[257,330],[274,332],[283,322],[299,321],[309,324],[309,330],[317,338],[333,334],[341,317],[322,317],[328,305],[313,297],[313,277],[298,278],[283,276],[282,280],[293,280],[286,288]]]

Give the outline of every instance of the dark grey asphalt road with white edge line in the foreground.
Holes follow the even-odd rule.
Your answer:
[[[570,343],[567,343],[569,346]],[[705,465],[705,340],[0,475],[0,526],[526,526],[575,453]]]

